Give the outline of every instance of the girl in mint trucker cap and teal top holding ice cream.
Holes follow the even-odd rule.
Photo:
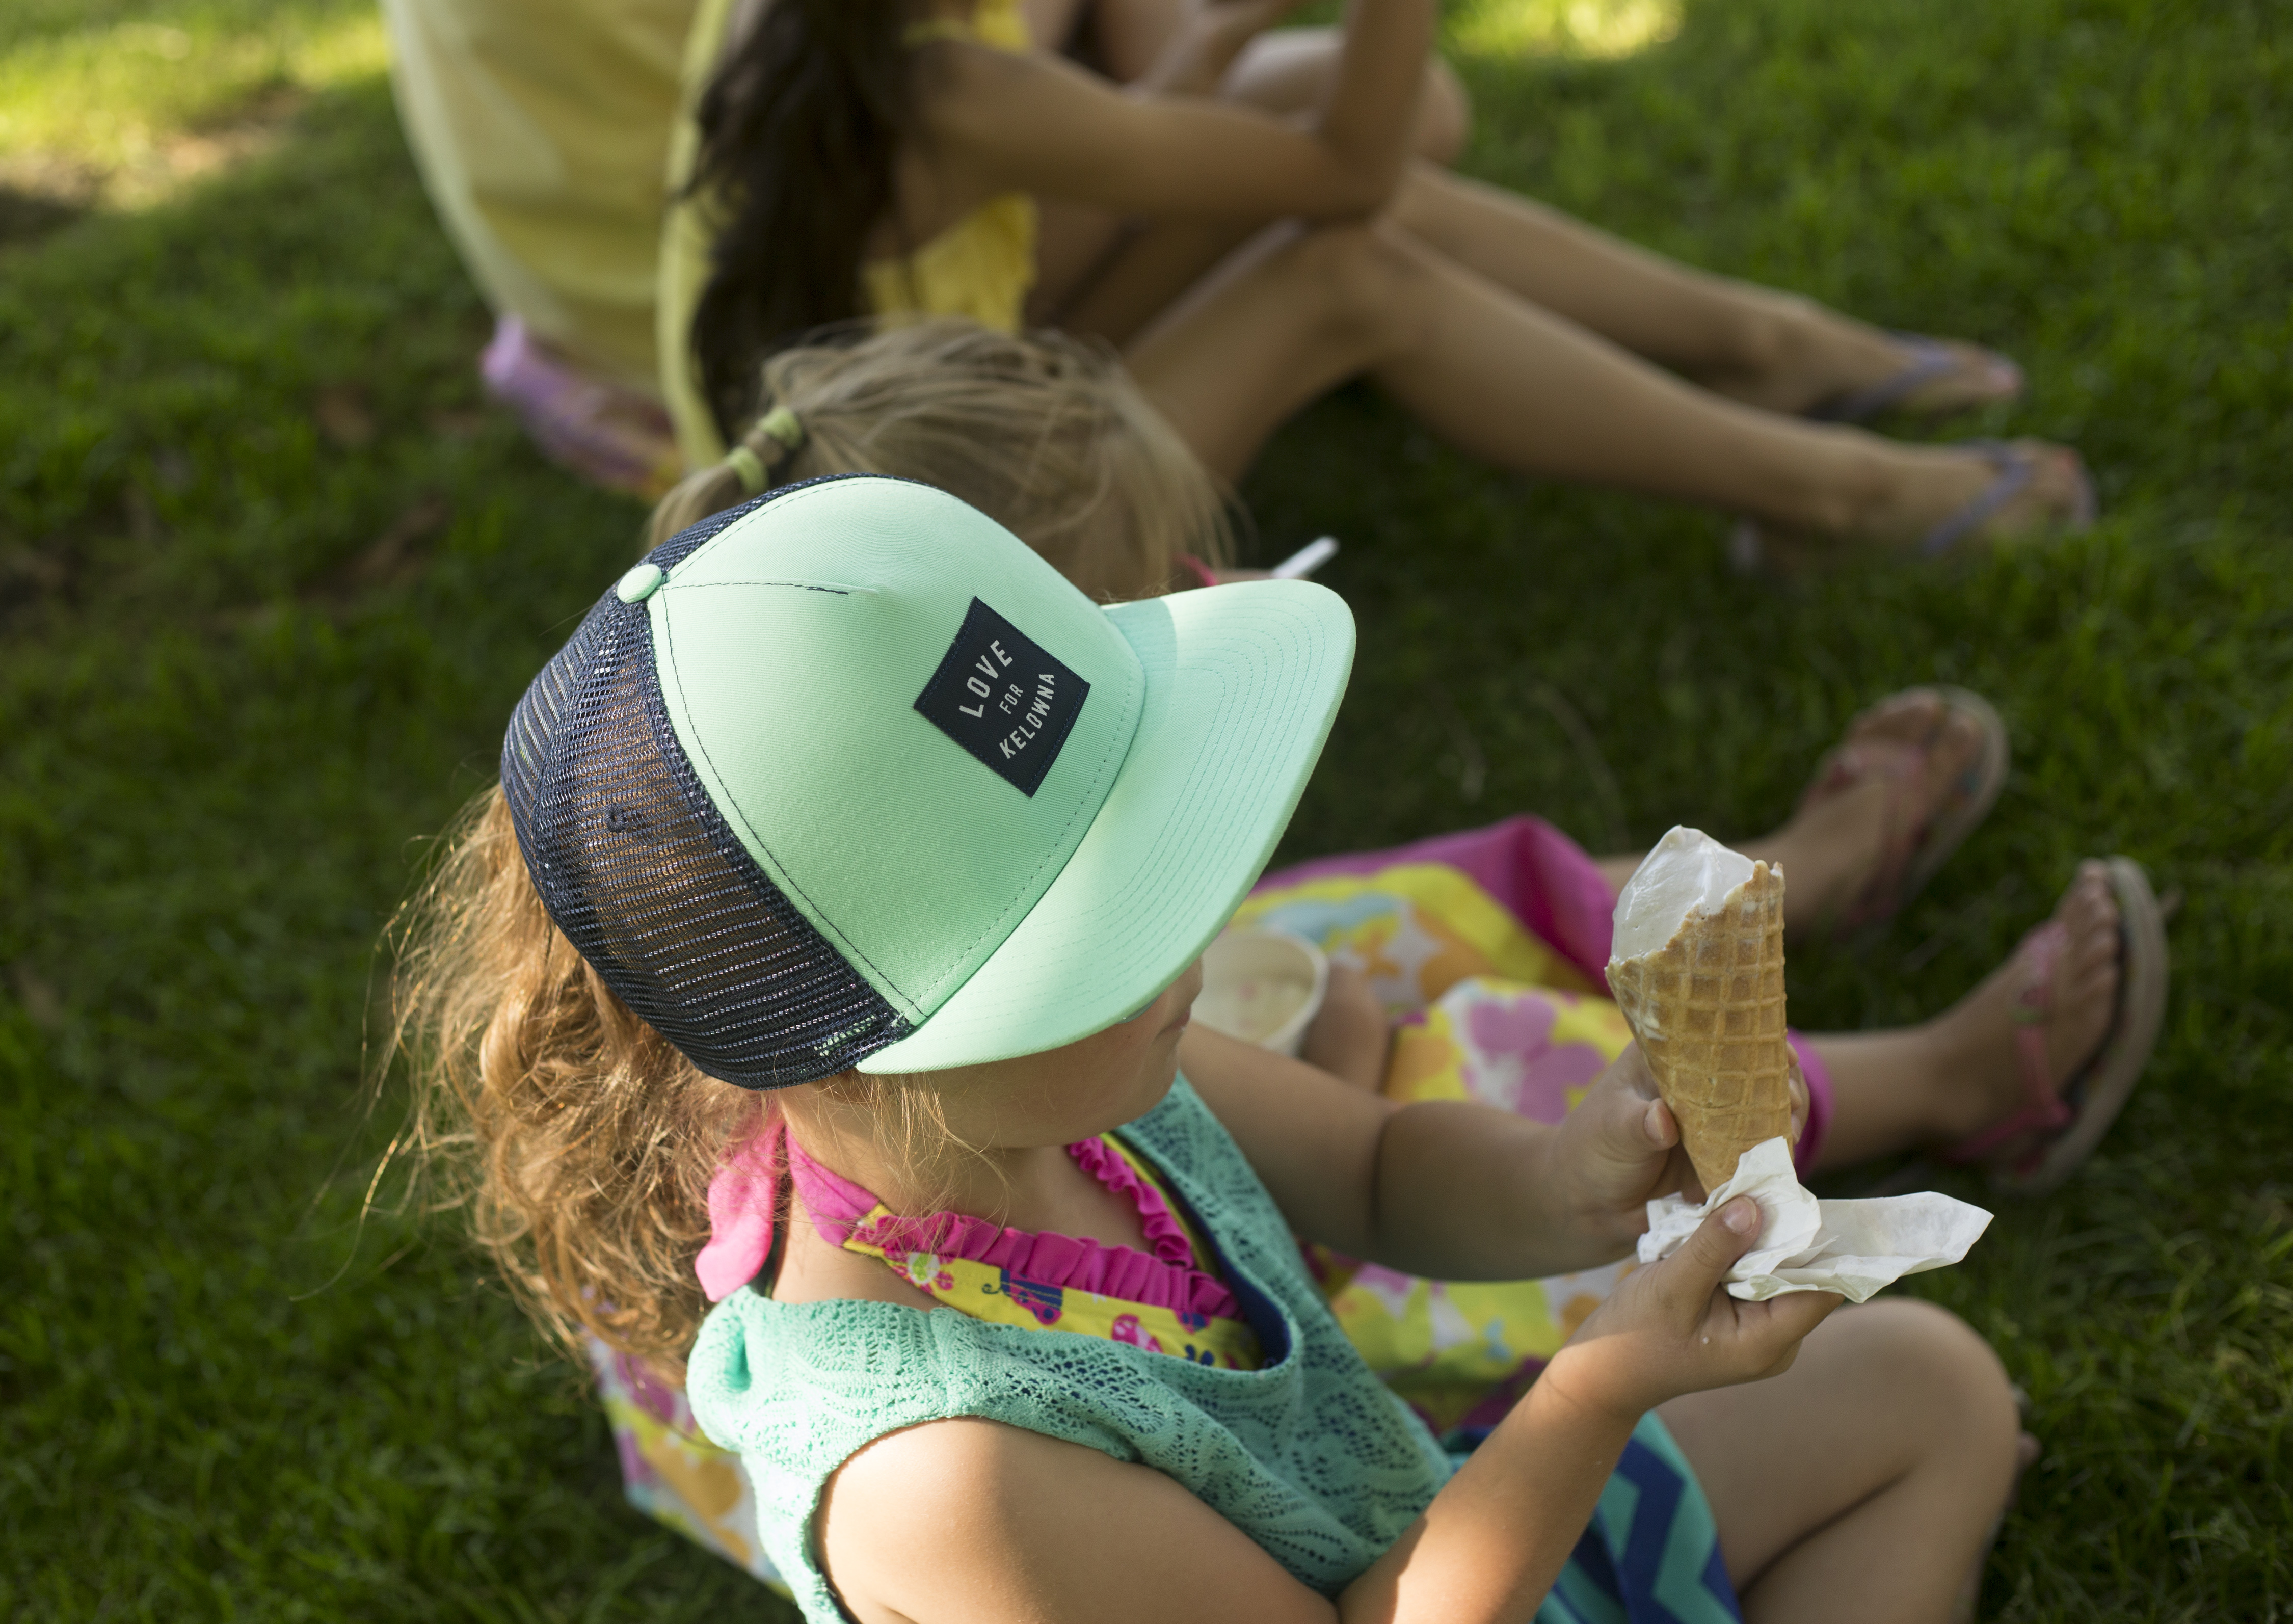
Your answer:
[[[1630,1057],[1548,1126],[1188,1030],[1348,663],[1321,587],[1098,608],[897,479],[658,548],[431,908],[514,1278],[686,1356],[812,1619],[1947,1617],[2004,1374],[1928,1305],[1717,1291],[1747,1202],[1463,1461],[1339,1333],[1293,1236],[1527,1278],[1683,1184]]]

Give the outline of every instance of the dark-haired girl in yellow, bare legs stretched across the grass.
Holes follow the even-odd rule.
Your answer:
[[[1291,413],[1371,376],[1504,468],[1724,507],[1823,551],[1940,553],[2087,516],[2064,447],[1841,427],[2006,399],[2020,374],[2002,358],[1683,268],[1412,161],[1433,0],[1355,0],[1305,106],[1220,99],[1286,9],[1195,9],[1124,87],[1034,50],[1016,0],[706,5],[688,60],[722,55],[660,282],[688,463],[722,452],[775,346],[825,321],[965,314],[1119,344],[1229,479]]]

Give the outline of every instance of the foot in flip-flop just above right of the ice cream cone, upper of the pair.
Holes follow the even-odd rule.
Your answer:
[[[1784,927],[1873,906],[1867,892],[1885,881],[1889,849],[1917,842],[1981,755],[1981,723],[1933,688],[1905,688],[1848,723],[1791,821],[1743,849],[1782,865]]]

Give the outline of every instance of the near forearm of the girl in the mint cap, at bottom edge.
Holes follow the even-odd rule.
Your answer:
[[[1539,1381],[1376,1564],[1341,1624],[1520,1624],[1543,1603],[1617,1470],[1637,1415]]]

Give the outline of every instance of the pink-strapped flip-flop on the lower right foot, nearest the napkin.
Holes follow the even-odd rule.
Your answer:
[[[1990,1188],[2002,1195],[2048,1195],[2077,1172],[2126,1108],[2158,1046],[2169,968],[2165,915],[2149,876],[2132,858],[2110,858],[2110,890],[2119,899],[2119,1002],[2100,1046],[2059,1090],[2048,1080],[2045,1025],[2055,1005],[2055,959],[2068,938],[2059,922],[2048,920],[2016,947],[2016,954],[2027,954],[2027,979],[2013,1009],[2022,1108],[1940,1154],[1940,1161],[1954,1165],[1988,1165]],[[2045,1138],[2020,1156],[1999,1156],[1999,1147],[2032,1133]]]

